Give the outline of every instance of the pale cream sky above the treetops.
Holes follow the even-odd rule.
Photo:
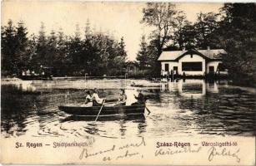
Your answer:
[[[218,12],[223,3],[176,3],[178,10],[185,12],[188,21],[195,22],[198,12]],[[96,31],[106,32],[116,39],[124,38],[128,60],[136,59],[140,39],[150,29],[140,23],[143,18],[144,2],[71,2],[71,1],[14,1],[2,2],[1,24],[8,19],[16,24],[23,20],[29,34],[38,34],[44,22],[47,34],[62,27],[66,35],[73,35],[76,25],[83,35],[87,20]]]

